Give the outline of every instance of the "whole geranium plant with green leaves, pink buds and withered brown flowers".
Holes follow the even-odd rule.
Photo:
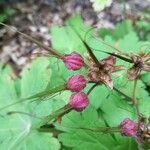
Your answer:
[[[51,28],[52,48],[17,32],[50,57],[15,79],[1,65],[1,149],[149,149],[148,41],[91,30],[80,16]]]

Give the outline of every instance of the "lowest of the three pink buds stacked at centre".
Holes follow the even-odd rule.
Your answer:
[[[74,93],[70,97],[69,105],[77,111],[83,110],[88,106],[88,104],[88,96],[84,92]]]

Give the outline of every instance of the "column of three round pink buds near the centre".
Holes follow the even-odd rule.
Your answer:
[[[63,62],[69,70],[79,70],[84,66],[83,57],[72,52],[63,57]],[[66,89],[73,92],[70,97],[69,106],[77,111],[81,111],[89,104],[88,96],[82,90],[85,88],[87,81],[83,75],[73,75],[69,77],[66,83]]]

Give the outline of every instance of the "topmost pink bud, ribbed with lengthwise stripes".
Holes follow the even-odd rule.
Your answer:
[[[79,70],[84,65],[83,57],[76,52],[65,55],[63,61],[69,70]]]

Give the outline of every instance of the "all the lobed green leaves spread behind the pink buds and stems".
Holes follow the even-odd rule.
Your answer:
[[[125,21],[116,26],[114,30],[98,30],[101,37],[93,37],[95,32],[85,25],[80,16],[70,18],[63,27],[51,28],[52,46],[63,53],[72,51],[85,56],[86,48],[81,39],[72,30],[73,26],[87,41],[96,57],[100,60],[108,56],[100,50],[114,52],[103,42],[114,45],[123,52],[138,53],[141,48],[147,49],[148,41],[140,41],[130,21]],[[89,34],[87,34],[87,32]],[[85,38],[86,37],[86,38]],[[131,67],[129,63],[117,60],[117,64]],[[114,73],[114,87],[133,96],[133,82],[127,79],[127,69]],[[61,110],[69,100],[70,92],[63,91],[54,94],[64,84],[64,79],[72,74],[86,75],[86,69],[71,72],[61,61],[56,58],[40,57],[34,60],[30,67],[23,69],[21,77],[11,78],[13,70],[0,66],[0,106],[1,108],[20,102],[0,111],[0,149],[8,150],[58,150],[60,142],[64,149],[74,150],[136,150],[138,145],[134,138],[122,136],[120,133],[103,133],[86,129],[100,129],[101,127],[116,127],[124,118],[137,120],[137,114],[131,101],[104,85],[97,86],[89,95],[90,105],[83,112],[71,111],[62,117],[61,123],[54,122],[53,128],[59,132],[58,138],[53,137],[54,132],[40,132],[39,124],[45,116],[50,116],[54,111]],[[143,73],[143,72],[142,72]],[[149,94],[146,84],[149,84],[149,73],[143,74],[137,82],[136,98],[140,112],[150,116]],[[142,82],[143,81],[143,82]],[[87,92],[93,84],[85,88]],[[31,98],[33,101],[24,101]],[[45,97],[44,97],[45,96]],[[36,97],[36,99],[34,99]],[[9,112],[9,114],[8,114]],[[57,119],[57,118],[56,118]],[[49,126],[48,126],[49,127]],[[49,129],[53,131],[51,126]],[[86,129],[85,129],[86,128]],[[50,132],[50,133],[49,133]]]

